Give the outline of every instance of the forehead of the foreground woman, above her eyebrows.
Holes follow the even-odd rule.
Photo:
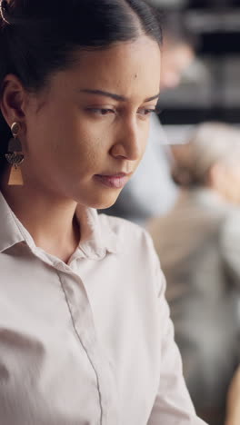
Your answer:
[[[53,84],[56,89],[64,85],[65,91],[87,88],[151,97],[159,92],[160,47],[142,35],[104,50],[79,52],[75,65],[55,74]]]

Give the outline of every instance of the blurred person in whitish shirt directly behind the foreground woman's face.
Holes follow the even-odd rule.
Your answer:
[[[195,58],[195,37],[179,14],[159,14],[158,19],[164,33],[161,90],[173,89],[180,84],[185,69]],[[142,163],[114,206],[105,213],[144,225],[150,217],[169,211],[178,197],[178,188],[170,173],[172,161],[162,125],[153,114]]]

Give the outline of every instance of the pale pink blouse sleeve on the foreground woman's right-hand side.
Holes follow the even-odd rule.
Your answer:
[[[158,279],[163,282],[158,295],[161,322],[161,372],[158,393],[147,425],[205,425],[197,418],[185,386],[182,360],[174,340],[174,326],[165,301],[165,278],[158,266]]]

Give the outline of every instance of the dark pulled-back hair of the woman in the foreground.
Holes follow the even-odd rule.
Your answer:
[[[140,34],[162,42],[155,9],[145,0],[8,0],[1,6],[0,86],[11,73],[37,91],[73,64],[79,49],[104,49]],[[10,137],[0,111],[0,171]]]

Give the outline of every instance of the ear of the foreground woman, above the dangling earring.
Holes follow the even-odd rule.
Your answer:
[[[1,110],[6,123],[11,127],[15,122],[25,122],[26,92],[23,84],[14,74],[7,74],[2,85]]]

